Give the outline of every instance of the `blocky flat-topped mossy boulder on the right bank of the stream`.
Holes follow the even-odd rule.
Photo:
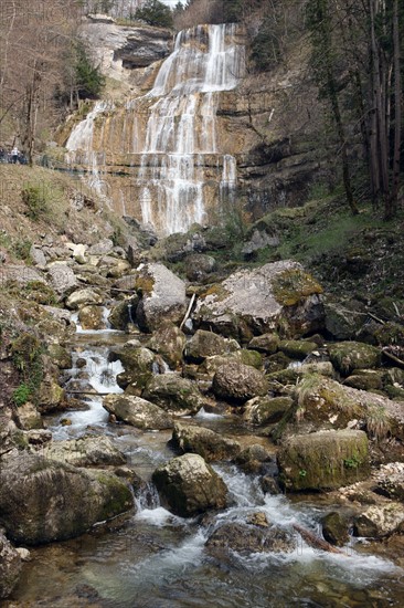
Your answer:
[[[350,485],[370,473],[368,437],[347,429],[294,436],[281,445],[277,461],[287,491]]]

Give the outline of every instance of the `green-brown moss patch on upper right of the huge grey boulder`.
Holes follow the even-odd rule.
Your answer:
[[[289,269],[277,274],[273,281],[274,295],[283,306],[295,306],[311,294],[322,293],[315,279],[300,269]]]

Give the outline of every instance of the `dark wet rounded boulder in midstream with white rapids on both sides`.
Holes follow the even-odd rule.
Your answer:
[[[226,506],[226,484],[198,454],[184,454],[162,464],[153,472],[152,481],[162,502],[181,517]]]

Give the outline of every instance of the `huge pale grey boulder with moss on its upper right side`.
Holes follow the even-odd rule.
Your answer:
[[[228,335],[233,326],[233,337],[242,339],[274,329],[295,337],[322,327],[321,293],[299,263],[285,260],[237,271],[216,289],[210,287],[193,317],[219,334]]]

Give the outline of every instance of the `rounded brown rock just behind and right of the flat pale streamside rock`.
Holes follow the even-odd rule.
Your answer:
[[[196,385],[177,374],[153,376],[141,396],[173,416],[192,416],[206,405]]]

